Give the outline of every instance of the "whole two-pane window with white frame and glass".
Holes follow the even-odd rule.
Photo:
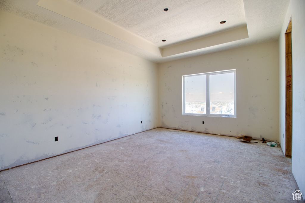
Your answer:
[[[236,70],[182,76],[183,114],[236,117]]]

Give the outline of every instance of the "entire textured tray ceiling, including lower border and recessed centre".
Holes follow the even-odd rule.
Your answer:
[[[160,63],[276,40],[289,1],[1,0],[0,12]]]

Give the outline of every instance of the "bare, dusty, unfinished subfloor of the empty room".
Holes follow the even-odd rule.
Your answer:
[[[153,130],[1,172],[0,202],[297,202],[265,143]],[[7,189],[6,189],[7,188]]]

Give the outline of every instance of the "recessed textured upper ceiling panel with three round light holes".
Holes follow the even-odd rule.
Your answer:
[[[158,47],[246,24],[242,0],[70,1]]]

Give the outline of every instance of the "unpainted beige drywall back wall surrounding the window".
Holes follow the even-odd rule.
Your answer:
[[[278,41],[167,62],[158,68],[161,127],[278,139]],[[182,115],[182,75],[230,69],[236,69],[236,118]]]

